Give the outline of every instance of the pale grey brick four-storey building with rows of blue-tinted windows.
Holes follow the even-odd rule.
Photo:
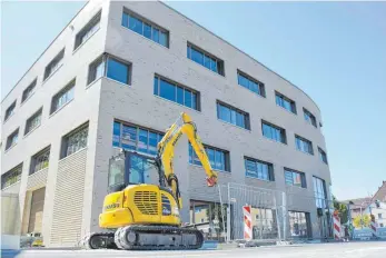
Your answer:
[[[41,232],[46,246],[72,246],[98,230],[109,158],[118,148],[154,155],[181,111],[197,123],[220,185],[291,195],[286,225],[296,237],[329,230],[318,224],[331,179],[317,105],[165,3],[89,1],[1,110],[1,189],[19,195],[17,231]],[[184,221],[192,202],[219,201],[187,139],[175,170]]]

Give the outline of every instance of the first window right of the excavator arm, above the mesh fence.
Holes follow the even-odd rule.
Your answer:
[[[244,157],[246,176],[267,181],[275,181],[274,166],[271,163]]]

